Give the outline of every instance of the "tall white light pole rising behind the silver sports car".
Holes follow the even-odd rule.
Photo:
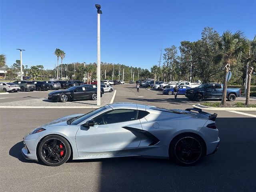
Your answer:
[[[95,7],[97,9],[98,14],[98,28],[97,28],[97,50],[98,50],[98,58],[97,58],[97,105],[100,106],[100,14],[102,14],[102,11],[100,10],[100,5],[95,4]]]

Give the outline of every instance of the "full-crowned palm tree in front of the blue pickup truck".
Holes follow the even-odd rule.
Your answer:
[[[230,70],[230,64],[239,60],[242,54],[246,53],[248,50],[248,43],[244,33],[240,30],[232,34],[230,31],[226,31],[221,36],[220,40],[215,42],[219,54],[216,56],[216,62],[223,62],[224,76],[223,76],[223,91],[222,91],[222,101],[221,105],[226,105],[227,98],[227,80],[226,75]]]

